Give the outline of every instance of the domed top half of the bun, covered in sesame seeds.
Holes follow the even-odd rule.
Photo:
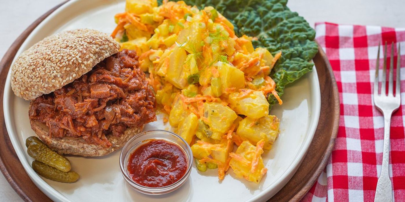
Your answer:
[[[93,29],[49,36],[15,60],[11,66],[11,88],[18,97],[34,100],[73,82],[118,51],[118,42]]]

